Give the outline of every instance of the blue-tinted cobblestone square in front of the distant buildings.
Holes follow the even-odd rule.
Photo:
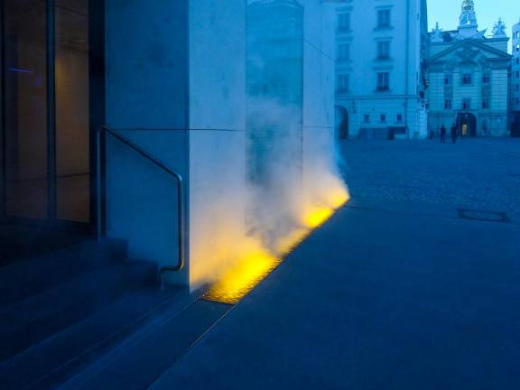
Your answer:
[[[353,196],[520,210],[520,139],[343,141]]]

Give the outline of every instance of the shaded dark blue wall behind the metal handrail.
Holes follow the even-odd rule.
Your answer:
[[[187,0],[106,3],[107,125],[180,172],[185,184],[187,15]],[[107,236],[126,239],[133,258],[177,264],[175,183],[108,135]],[[188,283],[186,271],[168,277]]]

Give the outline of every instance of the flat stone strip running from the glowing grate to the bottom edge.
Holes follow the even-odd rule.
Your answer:
[[[95,370],[79,374],[59,389],[146,389],[231,309],[217,302],[192,302],[145,337],[113,352]]]

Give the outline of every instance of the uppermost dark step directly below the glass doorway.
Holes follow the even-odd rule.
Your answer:
[[[123,240],[88,240],[0,267],[0,309],[125,258]]]

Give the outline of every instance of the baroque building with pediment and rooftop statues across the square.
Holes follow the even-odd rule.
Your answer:
[[[462,2],[457,30],[430,33],[428,128],[457,125],[462,136],[508,135],[508,71],[511,56],[506,25],[478,30],[473,0]]]

